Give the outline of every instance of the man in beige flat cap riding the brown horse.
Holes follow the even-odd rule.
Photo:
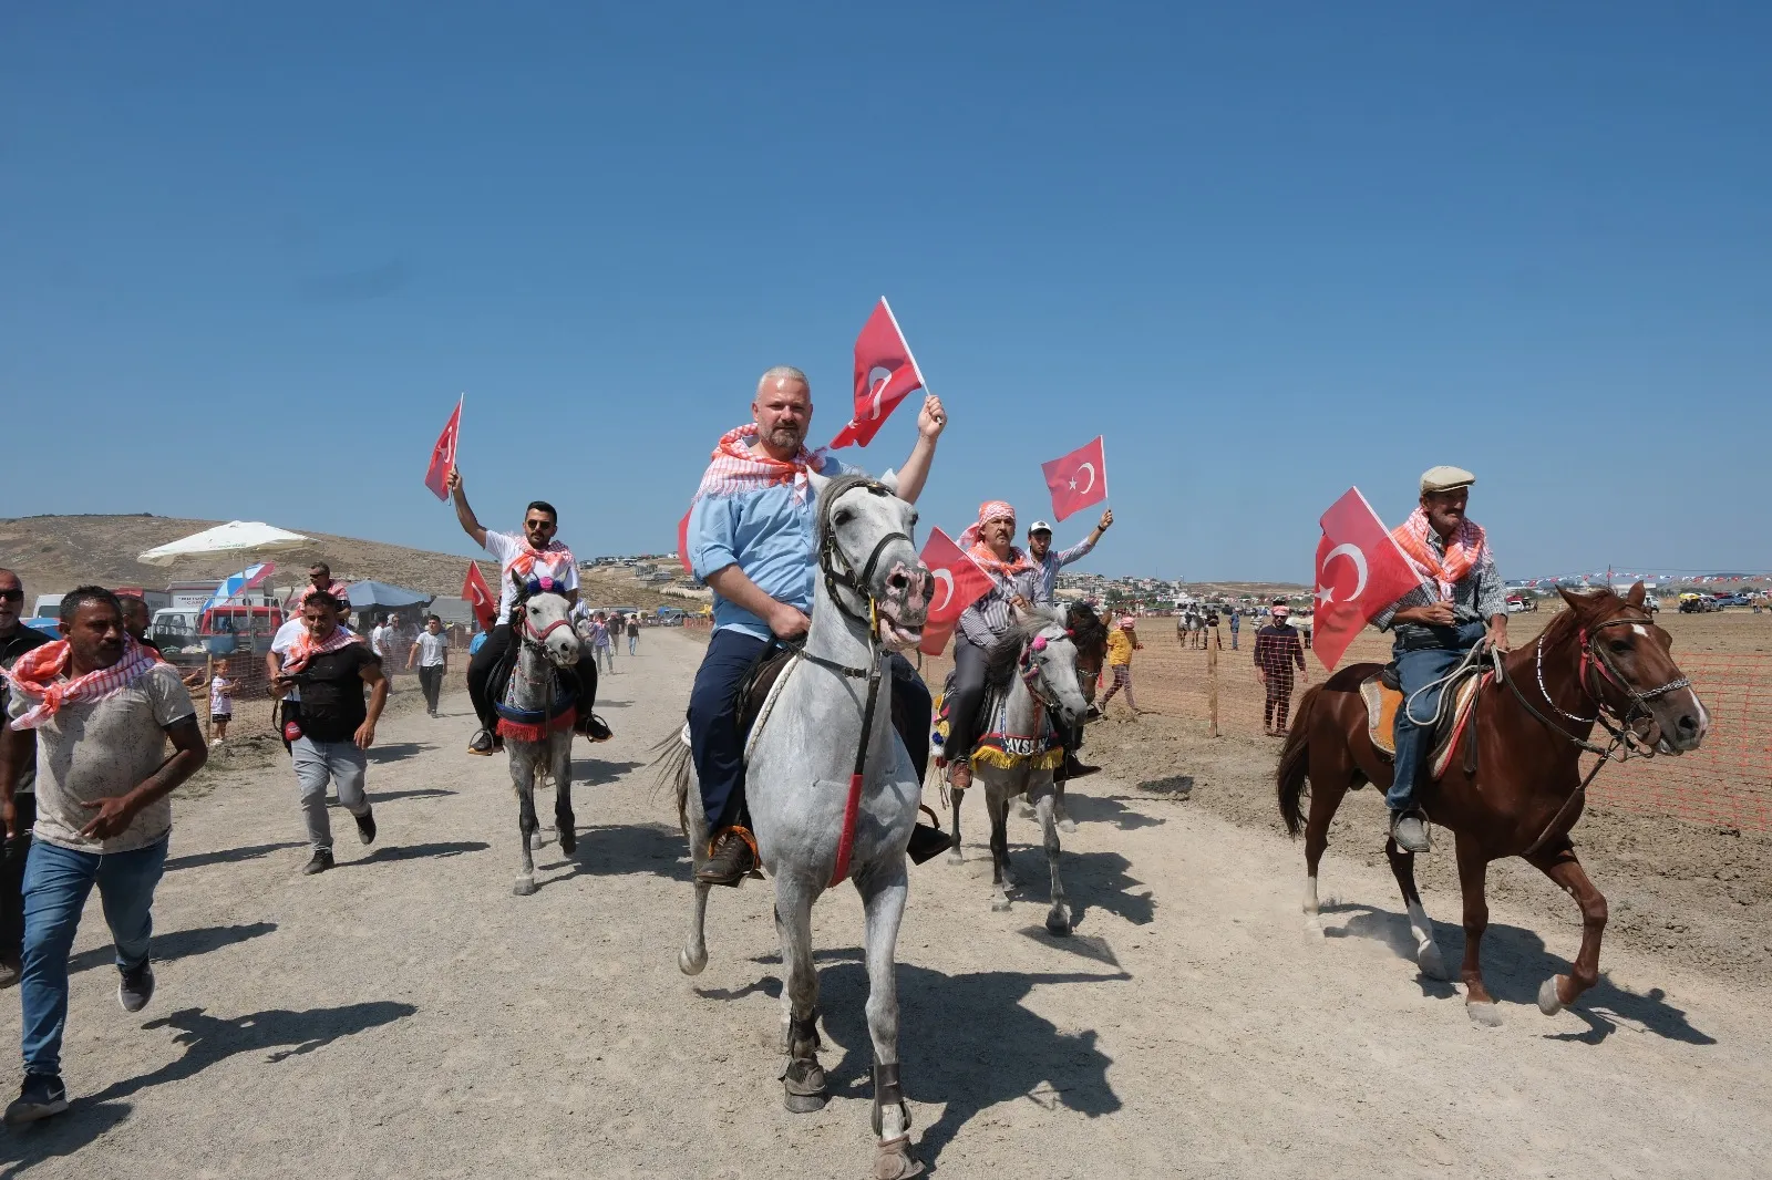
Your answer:
[[[1396,710],[1396,772],[1384,801],[1391,836],[1405,852],[1428,850],[1416,776],[1434,739],[1442,680],[1478,643],[1496,654],[1508,650],[1508,599],[1496,555],[1483,528],[1464,514],[1474,484],[1460,468],[1421,475],[1421,505],[1391,532],[1421,585],[1372,620],[1396,636],[1391,650],[1403,707]]]

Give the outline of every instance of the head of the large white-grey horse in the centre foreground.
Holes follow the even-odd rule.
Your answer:
[[[916,556],[911,530],[916,508],[898,500],[898,482],[856,475],[812,477],[819,494],[819,576],[836,608],[872,625],[879,641],[902,650],[923,638],[929,620],[929,569]]]

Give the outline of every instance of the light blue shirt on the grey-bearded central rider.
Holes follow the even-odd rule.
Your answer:
[[[826,457],[819,475],[863,475],[859,468]],[[757,588],[778,602],[812,611],[817,569],[819,498],[794,501],[794,485],[778,484],[734,496],[702,496],[689,512],[689,565],[695,576],[737,565]],[[742,631],[769,638],[769,624],[737,602],[714,595],[714,631]]]

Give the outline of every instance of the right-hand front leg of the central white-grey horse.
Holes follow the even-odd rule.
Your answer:
[[[856,881],[867,912],[868,1036],[874,1040],[874,1175],[904,1180],[923,1171],[911,1155],[911,1107],[898,1084],[898,921],[907,891],[904,858]]]

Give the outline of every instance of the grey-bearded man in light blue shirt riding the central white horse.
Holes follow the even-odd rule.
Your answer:
[[[792,365],[776,365],[757,383],[751,422],[727,431],[689,508],[688,558],[714,592],[714,634],[689,693],[689,746],[712,850],[696,879],[739,884],[757,866],[744,811],[744,735],[739,686],[771,636],[803,640],[810,625],[817,569],[817,496],[808,471],[861,475],[824,450],[808,450],[812,384]],[[916,446],[898,470],[898,498],[916,503],[929,478],[936,439],[948,425],[941,399],[923,399]],[[900,734],[911,762],[929,762],[929,689],[902,656],[890,659],[893,702],[904,709]],[[921,735],[921,742],[914,741]]]

